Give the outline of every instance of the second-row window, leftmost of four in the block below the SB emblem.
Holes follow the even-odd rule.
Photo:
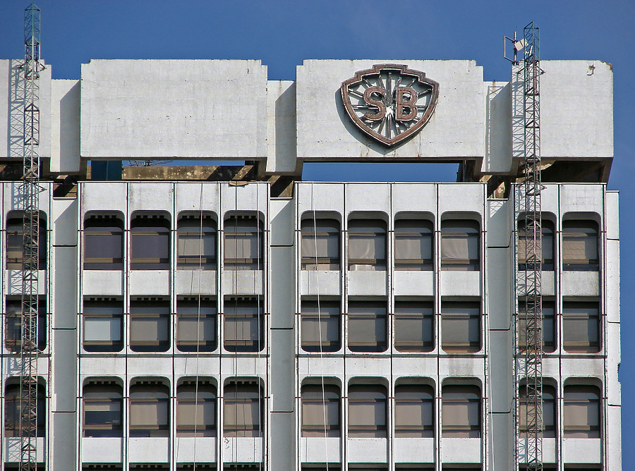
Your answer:
[[[302,301],[301,338],[306,352],[337,352],[339,335],[339,301]]]

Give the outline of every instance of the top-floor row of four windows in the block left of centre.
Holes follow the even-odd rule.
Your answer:
[[[83,231],[84,269],[123,269],[125,233],[121,215],[89,213]],[[212,214],[179,215],[176,221],[176,268],[216,269],[218,242],[218,224]],[[226,269],[258,270],[264,267],[264,226],[255,213],[226,216],[223,242]],[[133,214],[128,252],[131,269],[167,270],[171,266],[172,250],[169,214]]]

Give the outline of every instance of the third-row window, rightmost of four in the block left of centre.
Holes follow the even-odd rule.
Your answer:
[[[258,384],[226,384],[223,408],[224,436],[260,436],[264,409]]]

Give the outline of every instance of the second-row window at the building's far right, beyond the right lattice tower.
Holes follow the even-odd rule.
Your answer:
[[[600,351],[599,303],[565,300],[562,303],[562,337],[562,347],[567,352],[598,353]]]

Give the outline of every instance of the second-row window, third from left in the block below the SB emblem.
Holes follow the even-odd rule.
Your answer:
[[[400,352],[431,352],[435,345],[432,302],[395,301],[394,347]]]

